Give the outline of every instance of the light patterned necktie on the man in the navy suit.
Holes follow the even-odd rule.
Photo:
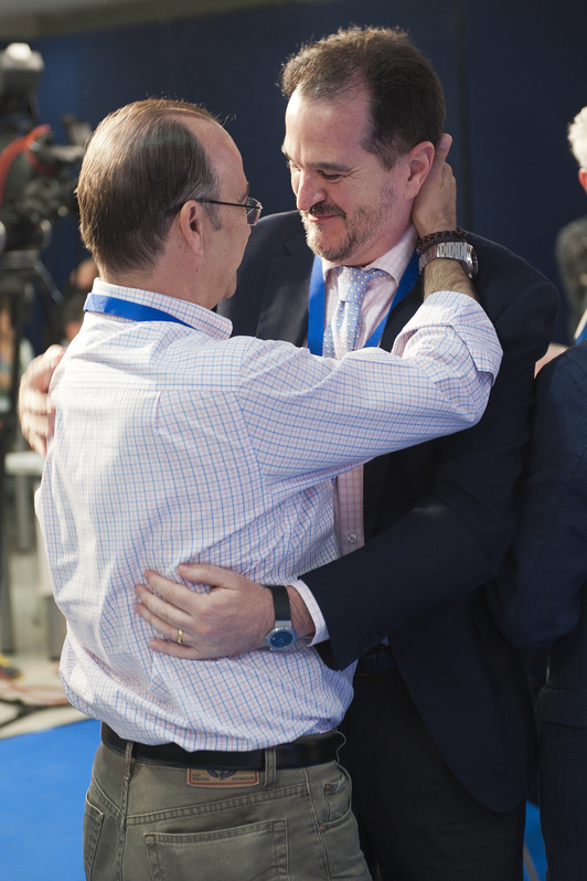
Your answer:
[[[324,358],[342,358],[356,349],[361,328],[363,297],[374,278],[386,273],[383,269],[357,269],[341,266],[339,273],[339,304],[330,325],[324,330],[322,354]]]

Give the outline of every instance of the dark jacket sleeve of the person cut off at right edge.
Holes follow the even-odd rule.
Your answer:
[[[522,513],[488,596],[505,637],[537,648],[569,631],[587,582],[587,344],[541,371]]]

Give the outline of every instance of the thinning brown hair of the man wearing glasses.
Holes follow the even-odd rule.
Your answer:
[[[100,268],[152,265],[173,216],[193,198],[214,198],[218,181],[200,140],[184,121],[217,125],[202,107],[149,98],[109,114],[93,134],[77,184],[79,230]],[[210,209],[217,223],[215,205]]]

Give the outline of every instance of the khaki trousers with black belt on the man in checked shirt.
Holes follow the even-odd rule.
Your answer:
[[[334,762],[226,779],[100,744],[84,818],[88,881],[370,881]]]

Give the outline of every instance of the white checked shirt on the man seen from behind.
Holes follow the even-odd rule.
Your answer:
[[[36,511],[70,701],[122,737],[185,750],[332,729],[351,683],[306,640],[212,661],[157,654],[134,586],[147,569],[179,580],[186,561],[284,583],[332,560],[333,477],[477,421],[501,360],[491,323],[472,299],[435,294],[394,353],[337,362],[230,339],[230,321],[183,300],[94,289],[185,323],[88,312],[55,373]]]

